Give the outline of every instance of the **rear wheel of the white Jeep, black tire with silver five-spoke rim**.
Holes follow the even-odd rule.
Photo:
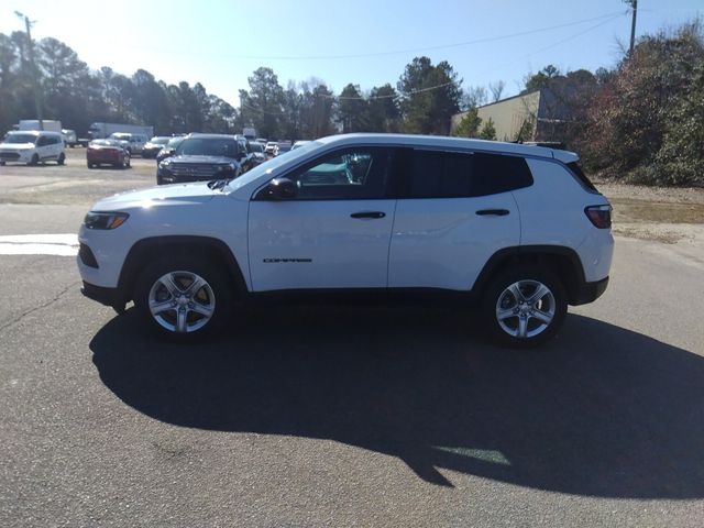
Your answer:
[[[540,286],[547,290],[542,296]],[[505,346],[528,349],[549,341],[562,327],[566,311],[562,282],[550,270],[538,266],[504,270],[482,296],[485,328]]]

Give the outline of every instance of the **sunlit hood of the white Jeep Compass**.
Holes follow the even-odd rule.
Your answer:
[[[198,205],[212,199],[219,190],[212,190],[207,182],[161,185],[130,190],[97,201],[91,211],[116,211],[130,208],[150,208],[175,205]]]

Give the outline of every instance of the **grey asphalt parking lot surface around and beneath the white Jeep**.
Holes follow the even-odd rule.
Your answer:
[[[256,306],[178,346],[8,249],[154,183],[81,156],[0,167],[0,526],[702,526],[701,246],[618,237],[538,351],[432,306]]]

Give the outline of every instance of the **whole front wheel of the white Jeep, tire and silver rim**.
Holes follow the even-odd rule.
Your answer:
[[[186,341],[221,326],[230,310],[231,288],[227,277],[205,261],[165,258],[141,274],[135,305],[153,330]]]

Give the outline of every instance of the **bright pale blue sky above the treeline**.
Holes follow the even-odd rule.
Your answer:
[[[667,3],[667,7],[666,7]],[[623,0],[2,0],[0,33],[36,21],[90,68],[169,84],[201,82],[239,107],[260,66],[289,80],[323,80],[336,94],[392,86],[414,57],[448,61],[463,87],[505,82],[517,94],[548,64],[563,73],[613,67],[630,37]],[[704,0],[639,0],[636,35],[704,15]]]

